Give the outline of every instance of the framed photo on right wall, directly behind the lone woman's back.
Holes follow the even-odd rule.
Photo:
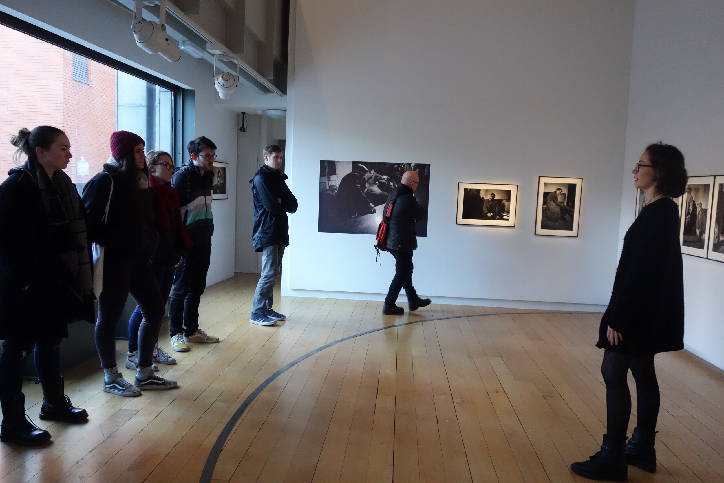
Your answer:
[[[681,253],[707,258],[713,185],[713,176],[689,177],[681,210]]]

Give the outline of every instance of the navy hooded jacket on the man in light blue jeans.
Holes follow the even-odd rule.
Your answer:
[[[251,240],[254,251],[265,246],[289,245],[289,219],[287,213],[295,213],[297,198],[292,195],[287,175],[266,164],[256,170],[249,180],[254,201],[254,226]],[[281,203],[277,199],[282,200]]]

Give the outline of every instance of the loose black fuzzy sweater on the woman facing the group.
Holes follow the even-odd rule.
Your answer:
[[[669,198],[644,206],[623,238],[611,301],[596,346],[636,357],[683,349],[683,266],[678,207]],[[611,327],[623,335],[608,343]]]

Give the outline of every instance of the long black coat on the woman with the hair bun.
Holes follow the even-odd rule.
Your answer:
[[[17,168],[9,175],[0,185],[0,339],[68,337],[68,323],[95,322],[93,304],[67,285],[33,177]]]

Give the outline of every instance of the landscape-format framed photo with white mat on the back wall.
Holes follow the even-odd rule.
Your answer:
[[[457,224],[515,227],[518,185],[458,183]]]

